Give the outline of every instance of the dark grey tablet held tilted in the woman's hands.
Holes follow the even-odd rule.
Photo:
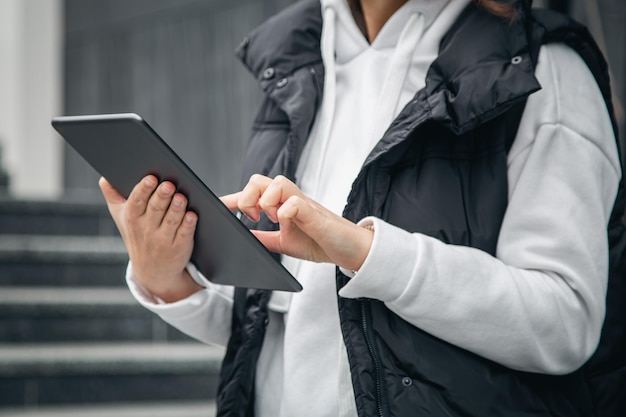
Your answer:
[[[198,213],[192,262],[218,284],[300,291],[302,286],[159,135],[134,113],[66,116],[52,126],[121,194],[141,178],[168,180]]]

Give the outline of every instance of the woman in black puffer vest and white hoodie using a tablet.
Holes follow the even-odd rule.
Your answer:
[[[242,44],[265,101],[250,179],[223,201],[302,293],[210,283],[172,184],[147,177],[126,201],[101,181],[131,291],[228,346],[219,415],[599,412],[578,370],[621,168],[587,65],[542,44],[601,58],[529,2],[478,3],[301,1]]]

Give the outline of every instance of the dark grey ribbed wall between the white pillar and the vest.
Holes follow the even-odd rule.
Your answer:
[[[239,186],[260,98],[234,49],[289,0],[67,0],[66,114],[141,114],[217,193]],[[65,152],[70,194],[97,175]]]

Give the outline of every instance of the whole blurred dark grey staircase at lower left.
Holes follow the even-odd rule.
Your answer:
[[[101,202],[0,199],[0,417],[210,417],[223,351],[132,299]]]

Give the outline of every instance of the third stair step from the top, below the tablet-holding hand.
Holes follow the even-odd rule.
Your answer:
[[[189,340],[126,288],[6,287],[0,343]]]

